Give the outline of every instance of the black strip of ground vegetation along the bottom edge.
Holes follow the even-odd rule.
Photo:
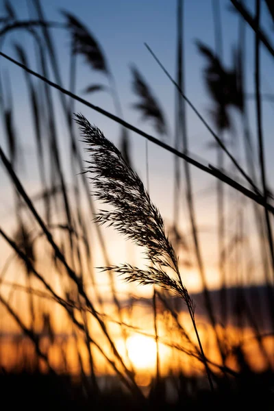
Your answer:
[[[104,377],[102,377],[103,379]],[[175,387],[172,379],[176,379]],[[136,401],[115,383],[109,381],[101,394],[84,393],[80,382],[70,376],[40,373],[9,373],[0,376],[1,401],[7,409],[53,410],[273,410],[273,373],[246,372],[227,384],[221,377],[214,393],[203,388],[205,382],[183,374],[153,383],[144,401]],[[170,391],[173,386],[172,392]],[[92,403],[92,406],[90,406]]]

